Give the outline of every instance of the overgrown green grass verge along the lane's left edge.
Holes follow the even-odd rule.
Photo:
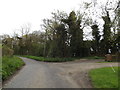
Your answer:
[[[0,71],[0,73],[2,72],[2,80],[7,79],[10,75],[12,75],[23,65],[24,62],[19,57],[2,57],[2,71]]]

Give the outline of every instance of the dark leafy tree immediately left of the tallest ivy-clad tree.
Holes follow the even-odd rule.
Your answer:
[[[51,42],[50,50],[48,56],[51,57],[65,57],[67,49],[67,31],[64,24],[59,24],[56,26],[56,34]]]

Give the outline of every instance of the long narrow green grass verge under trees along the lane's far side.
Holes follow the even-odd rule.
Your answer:
[[[37,57],[37,56],[23,56],[31,59],[35,59],[37,61],[45,61],[45,62],[66,62],[73,61],[75,58],[47,58],[47,57]]]

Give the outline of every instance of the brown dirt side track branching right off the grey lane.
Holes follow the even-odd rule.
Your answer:
[[[118,66],[118,63],[97,63],[104,60],[76,60],[65,63],[54,63],[56,67],[62,70],[62,75],[71,82],[78,84],[81,88],[93,88],[88,72],[91,69]],[[112,70],[112,69],[111,69]]]

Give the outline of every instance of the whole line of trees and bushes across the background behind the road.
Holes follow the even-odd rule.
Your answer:
[[[87,10],[92,4],[85,3],[85,5]],[[99,32],[99,26],[96,24],[97,21],[91,26],[93,40],[83,39],[83,37],[86,38],[87,36],[83,30],[88,27],[92,20],[85,15],[90,13],[71,11],[67,14],[57,11],[52,13],[51,18],[43,20],[42,26],[45,32],[34,31],[29,33],[30,27],[26,27],[28,31],[24,31],[27,29],[22,27],[22,35],[20,37],[17,34],[12,38],[9,35],[5,35],[5,38],[2,40],[4,44],[3,55],[12,56],[14,50],[14,54],[17,55],[86,57],[89,55],[105,55],[109,49],[115,54],[119,50],[120,34],[119,31],[112,34],[112,21],[109,11],[106,9],[105,13],[106,15],[101,17],[104,21],[103,39]],[[118,30],[118,27],[114,29]]]

